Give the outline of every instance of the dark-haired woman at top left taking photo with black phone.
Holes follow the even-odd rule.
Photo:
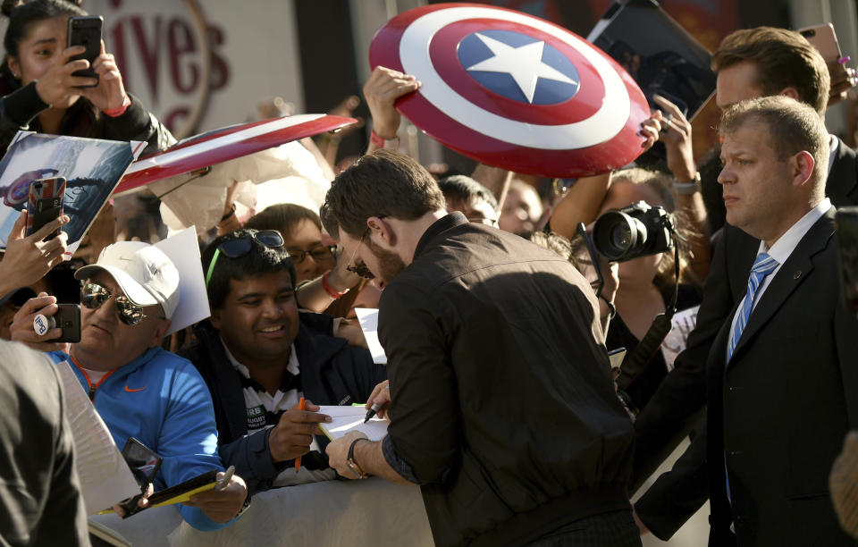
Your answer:
[[[83,46],[66,47],[69,17],[87,15],[65,0],[4,0],[9,18],[0,66],[0,154],[19,130],[94,139],[142,140],[146,152],[175,142],[170,131],[122,84],[114,55],[92,63],[97,78],[75,76],[89,68]]]

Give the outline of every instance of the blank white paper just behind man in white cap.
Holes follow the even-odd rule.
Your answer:
[[[206,278],[199,257],[197,230],[191,226],[179,233],[158,241],[155,246],[172,260],[179,270],[179,307],[172,314],[170,330],[167,334],[181,331],[189,324],[195,324],[211,315],[206,294]]]

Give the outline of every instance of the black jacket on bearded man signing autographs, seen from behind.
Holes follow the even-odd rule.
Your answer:
[[[422,484],[436,544],[524,544],[628,509],[632,424],[593,291],[566,260],[454,213],[379,313],[385,447]]]

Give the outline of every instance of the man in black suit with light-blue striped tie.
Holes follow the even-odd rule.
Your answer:
[[[858,323],[838,298],[828,133],[779,96],[733,105],[720,132],[726,268],[707,297],[730,311],[706,365],[706,432],[635,509],[669,537],[708,481],[710,545],[850,545],[828,472],[858,425]],[[689,492],[696,508],[680,505]]]

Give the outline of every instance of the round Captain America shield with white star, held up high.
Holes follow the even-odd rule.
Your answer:
[[[650,117],[635,80],[610,56],[551,22],[481,4],[433,4],[375,33],[372,68],[422,86],[396,108],[465,156],[573,178],[628,164]]]

